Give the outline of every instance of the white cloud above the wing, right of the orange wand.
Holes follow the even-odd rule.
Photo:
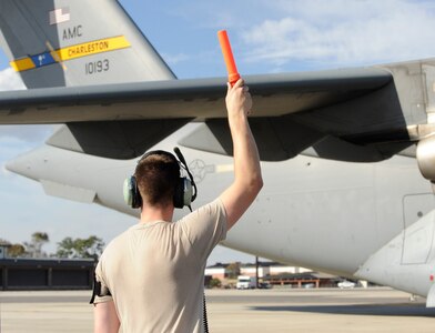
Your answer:
[[[435,56],[435,11],[425,1],[281,1],[279,19],[242,34],[246,60],[362,64]]]

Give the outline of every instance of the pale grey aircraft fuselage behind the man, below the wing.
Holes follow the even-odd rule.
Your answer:
[[[188,124],[162,141],[159,149],[172,150],[180,133],[194,127]],[[232,158],[192,149],[182,151],[199,186],[194,203],[198,208],[231,183]],[[103,159],[44,145],[8,168],[40,181],[49,194],[97,202],[136,216],[139,211],[129,209],[122,196],[122,183],[133,173],[135,163],[136,160]],[[264,188],[227,233],[224,245],[355,278],[371,256],[399,236],[402,241],[395,245],[402,244],[395,254],[399,258],[385,259],[385,268],[429,266],[433,219],[424,226],[424,240],[406,234],[406,229],[426,216],[434,205],[432,188],[421,176],[414,159],[396,155],[383,162],[351,163],[299,155],[283,162],[262,162],[262,170]],[[186,213],[186,209],[176,210],[175,219]],[[371,280],[370,273],[364,274]],[[427,295],[429,274],[423,274],[427,281],[417,286],[399,289]],[[383,278],[376,276],[374,282],[393,286],[397,281],[387,271]]]

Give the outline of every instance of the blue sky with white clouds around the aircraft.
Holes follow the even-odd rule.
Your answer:
[[[435,57],[435,1],[411,0],[121,0],[179,79],[226,74],[216,31],[226,29],[239,72],[262,74],[374,65]],[[0,51],[0,90],[24,89]],[[0,238],[28,242],[36,231],[54,252],[65,236],[109,242],[134,218],[44,194],[4,163],[51,135],[53,125],[0,125]],[[265,180],[267,181],[267,180]],[[215,262],[253,262],[218,246]]]

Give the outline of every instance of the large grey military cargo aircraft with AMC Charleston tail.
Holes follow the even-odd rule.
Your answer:
[[[226,79],[176,80],[118,1],[2,0],[0,31],[29,88],[0,93],[0,123],[64,123],[9,170],[134,216],[122,183],[148,150],[181,147],[194,206],[231,183]],[[223,245],[435,306],[435,59],[245,81],[264,188]]]

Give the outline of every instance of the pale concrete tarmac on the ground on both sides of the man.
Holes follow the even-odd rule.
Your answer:
[[[92,332],[90,291],[0,292],[0,332]],[[208,290],[210,332],[435,332],[435,309],[386,287]]]

